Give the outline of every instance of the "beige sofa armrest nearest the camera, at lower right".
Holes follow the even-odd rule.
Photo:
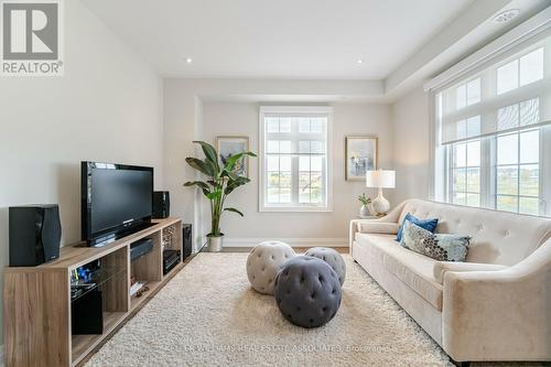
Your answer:
[[[444,274],[442,347],[455,360],[551,360],[551,240],[498,271]]]

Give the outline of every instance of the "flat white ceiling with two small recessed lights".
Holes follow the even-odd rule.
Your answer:
[[[473,0],[83,2],[161,76],[383,79]]]

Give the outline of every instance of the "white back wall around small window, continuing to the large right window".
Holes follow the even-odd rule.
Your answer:
[[[203,244],[201,235],[208,231],[208,224],[205,226],[202,218],[208,217],[209,213],[203,206],[204,198],[195,195],[194,190],[182,187],[185,181],[195,179],[195,172],[185,163],[186,156],[198,154],[192,140],[214,141],[216,134],[239,133],[251,137],[251,147],[258,148],[259,100],[272,105],[300,105],[335,100],[335,96],[376,97],[380,93],[378,85],[361,80],[164,79],[164,183],[171,192],[172,214],[194,225],[195,247]],[[344,136],[352,133],[379,136],[380,165],[397,171],[397,188],[386,191],[391,204],[409,197],[426,198],[429,112],[429,96],[420,86],[391,105],[368,101],[335,104],[334,191],[339,196],[335,197],[334,212],[258,213],[258,174],[253,162],[255,182],[231,198],[247,212],[247,218],[227,215],[224,230],[229,238],[237,239],[346,237],[347,223],[357,211],[355,196],[364,190],[361,183],[343,179]]]

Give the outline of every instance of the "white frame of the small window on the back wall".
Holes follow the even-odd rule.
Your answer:
[[[326,133],[326,168],[325,168],[325,203],[324,205],[313,204],[267,204],[266,203],[266,115],[324,115],[327,117]],[[333,212],[333,108],[328,106],[261,106],[259,111],[259,212]],[[298,172],[293,171],[292,176]],[[294,181],[294,180],[293,180]],[[294,186],[294,185],[293,185]]]

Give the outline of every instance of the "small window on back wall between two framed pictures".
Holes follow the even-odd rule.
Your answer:
[[[261,212],[331,211],[328,107],[260,108]]]

